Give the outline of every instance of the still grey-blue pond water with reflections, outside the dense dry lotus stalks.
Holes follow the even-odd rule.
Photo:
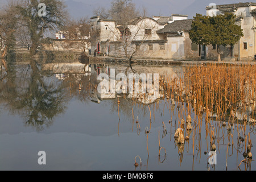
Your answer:
[[[245,142],[235,124],[229,135],[217,121],[201,130],[193,125],[189,140],[175,142],[181,110],[197,121],[186,102],[172,105],[166,97],[142,104],[125,94],[95,97],[99,73],[159,73],[182,77],[183,65],[46,64],[14,65],[1,72],[0,170],[254,170],[242,163]],[[95,91],[95,90],[94,90]],[[118,104],[119,101],[119,104]],[[178,106],[179,105],[179,106]],[[138,123],[136,123],[138,118]],[[216,164],[210,165],[210,134],[216,134]],[[140,129],[139,129],[140,128]],[[165,130],[164,130],[165,129]],[[148,131],[148,132],[145,132]],[[254,126],[248,126],[254,154]],[[184,131],[187,133],[187,131]],[[194,137],[192,137],[194,136]],[[232,137],[231,137],[232,136]],[[159,142],[160,150],[159,156]],[[39,165],[39,151],[46,165]],[[166,152],[165,152],[166,151]],[[134,167],[135,157],[142,165]],[[136,158],[140,163],[139,158]]]

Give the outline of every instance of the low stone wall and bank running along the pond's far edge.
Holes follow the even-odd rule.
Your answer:
[[[15,64],[28,64],[29,51],[16,51],[15,54]],[[38,51],[32,59],[38,61],[39,64],[45,63],[77,63],[79,62],[79,57],[81,52],[74,51]],[[12,56],[12,55],[11,55]],[[123,57],[109,57],[109,56],[96,56],[89,55],[89,63],[92,64],[107,64],[107,63],[117,63],[117,64],[130,64],[129,59]],[[255,65],[256,61],[233,61],[224,59],[220,62],[216,60],[167,60],[167,59],[148,59],[148,58],[138,58],[133,59],[133,64],[149,64],[149,65],[207,65],[207,64],[233,64],[233,65],[245,65],[251,64]]]

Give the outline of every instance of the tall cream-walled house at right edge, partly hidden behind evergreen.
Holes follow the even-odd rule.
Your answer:
[[[232,60],[254,60],[255,56],[255,35],[256,35],[256,3],[234,3],[229,5],[207,6],[207,15],[214,16],[226,12],[237,15],[237,24],[243,30],[243,37],[232,46],[221,47],[222,59]],[[207,58],[216,57],[216,45],[207,47]]]

